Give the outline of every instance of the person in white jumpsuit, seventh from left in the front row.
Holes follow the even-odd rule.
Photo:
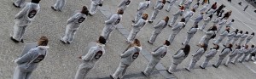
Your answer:
[[[215,54],[217,54],[218,52],[218,45],[214,45],[213,48],[210,48],[210,51],[207,52],[206,59],[204,60],[204,62],[199,66],[201,69],[205,69],[209,63],[209,61],[215,56]]]

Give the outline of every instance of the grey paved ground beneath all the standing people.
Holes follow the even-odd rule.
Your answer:
[[[14,43],[9,40],[9,36],[13,31],[14,16],[20,11],[20,8],[15,8],[11,5],[11,1],[0,0],[2,6],[0,8],[0,79],[11,79],[15,69],[14,60],[20,55],[25,43]],[[28,1],[28,0],[26,0]],[[95,68],[90,71],[87,78],[88,79],[108,79],[110,74],[116,70],[119,65],[119,54],[123,52],[126,48],[127,43],[125,42],[126,35],[123,35],[131,31],[131,20],[133,20],[138,2],[143,0],[133,0],[129,8],[125,10],[123,15],[123,20],[119,29],[113,31],[112,36],[108,44],[106,45],[107,54],[102,57],[102,60],[95,66]],[[240,0],[239,0],[240,1]],[[33,79],[73,79],[75,72],[78,69],[81,60],[78,59],[80,54],[84,54],[84,48],[87,46],[88,42],[95,42],[96,38],[100,36],[102,28],[104,26],[104,20],[106,20],[106,15],[108,13],[114,13],[116,11],[117,5],[120,1],[117,0],[105,0],[104,5],[100,8],[93,17],[88,17],[86,21],[81,25],[79,31],[76,34],[74,42],[70,45],[63,45],[59,40],[63,36],[66,28],[67,19],[76,10],[80,10],[81,6],[87,5],[89,7],[90,0],[70,0],[67,1],[65,8],[62,12],[53,11],[50,6],[55,3],[52,0],[42,0],[40,3],[41,11],[38,16],[33,21],[32,25],[27,28],[25,41],[26,43],[37,41],[40,36],[49,37],[49,54],[47,59],[38,66],[38,69],[33,72]],[[155,0],[152,0],[151,4],[154,5]],[[179,2],[177,2],[179,3]],[[127,79],[165,79],[165,78],[179,78],[179,79],[253,79],[256,77],[256,65],[253,62],[230,65],[225,67],[221,65],[218,69],[213,68],[211,65],[215,63],[218,59],[218,54],[215,58],[210,61],[207,70],[199,69],[198,65],[201,65],[204,57],[197,63],[195,71],[185,71],[184,68],[189,65],[191,55],[183,61],[181,65],[177,68],[179,71],[173,75],[165,75],[164,69],[168,69],[172,62],[172,55],[177,52],[179,48],[182,47],[181,42],[183,42],[186,31],[193,23],[192,20],[175,38],[172,42],[172,46],[169,47],[168,54],[166,57],[160,61],[157,69],[154,71],[154,75],[150,77],[144,77],[140,71],[143,71],[148,64],[148,57],[150,55],[148,52],[154,50],[162,44],[162,41],[169,37],[172,32],[170,27],[160,34],[154,45],[148,44],[151,32],[153,31],[152,26],[159,20],[162,20],[166,15],[172,17],[171,14],[177,11],[177,3],[174,5],[170,13],[167,13],[164,9],[158,14],[157,19],[153,24],[147,24],[143,27],[143,30],[139,32],[137,38],[141,40],[143,44],[143,53],[139,58],[129,67],[126,72],[125,78]],[[213,3],[213,0],[211,1]],[[238,0],[232,0],[232,3],[226,2],[225,0],[218,0],[218,4],[224,3],[227,8],[233,11],[230,19],[236,20],[233,28],[238,28],[243,31],[255,32],[256,30],[256,14],[251,11],[253,8],[249,6],[246,12],[242,9],[246,5],[239,6]],[[166,3],[167,4],[167,3]],[[192,3],[194,5],[195,3]],[[152,5],[147,9],[146,13],[150,16],[153,12]],[[192,6],[191,5],[191,6]],[[200,6],[201,8],[202,6]],[[165,7],[166,8],[166,7]],[[195,15],[199,14],[196,12]],[[194,19],[193,17],[192,19]],[[215,19],[215,16],[214,18]],[[202,25],[202,22],[200,23]],[[209,24],[212,25],[212,24]],[[208,27],[209,27],[208,25]],[[121,31],[121,32],[120,32]],[[232,29],[231,31],[234,31]],[[202,31],[198,31],[194,38],[190,41],[191,51],[190,54],[195,53],[198,48],[195,45],[199,42],[200,38],[203,36]],[[212,42],[212,41],[211,41]],[[251,41],[255,44],[255,38]],[[251,44],[251,43],[250,43]],[[210,46],[212,47],[212,45]],[[221,47],[222,49],[223,47]],[[226,59],[224,59],[225,61]],[[163,70],[159,70],[163,69]]]

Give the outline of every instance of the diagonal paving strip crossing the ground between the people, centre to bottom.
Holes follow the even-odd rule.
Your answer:
[[[108,16],[110,16],[111,14],[113,14],[113,13],[110,12],[110,8],[108,8],[108,7],[102,7],[102,8],[100,8],[99,10],[100,10],[100,11],[102,12],[102,14],[105,15],[106,17],[108,17]],[[119,25],[117,25],[116,29],[117,29],[125,38],[128,37],[130,31],[128,31],[127,29],[125,29],[125,27],[124,27],[123,25],[121,25],[121,24],[119,23]],[[146,58],[148,61],[151,59],[151,58],[150,58],[151,55],[148,55],[148,54],[150,54],[150,53],[149,53],[147,50],[144,50],[144,48],[143,48],[141,54],[143,54],[144,58]],[[167,69],[166,69],[162,64],[160,64],[160,63],[155,66],[155,69],[157,69],[158,71],[159,71],[159,69],[160,69],[160,70],[167,70]],[[173,79],[173,78],[177,79],[176,76],[174,76],[173,74],[169,74],[167,71],[159,71],[159,72],[160,72],[160,74],[161,74],[162,76],[164,76],[166,79]]]

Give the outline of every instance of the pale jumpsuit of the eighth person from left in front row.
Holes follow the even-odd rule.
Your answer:
[[[230,54],[231,49],[230,48],[224,48],[224,50],[218,55],[218,61],[214,64],[215,66],[219,66],[222,62],[222,60],[228,55]]]

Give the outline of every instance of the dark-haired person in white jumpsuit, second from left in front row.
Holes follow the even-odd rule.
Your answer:
[[[91,47],[86,55],[79,56],[79,59],[83,60],[83,64],[79,65],[79,70],[74,79],[84,79],[87,73],[94,68],[94,65],[105,54],[105,43],[105,38],[99,37],[95,47]]]

